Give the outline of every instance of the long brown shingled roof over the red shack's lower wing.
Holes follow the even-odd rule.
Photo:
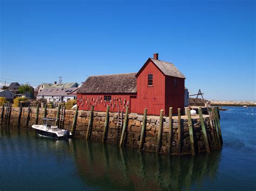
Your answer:
[[[89,76],[77,93],[136,93],[136,74]]]

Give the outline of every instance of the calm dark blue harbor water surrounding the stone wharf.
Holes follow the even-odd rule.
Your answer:
[[[195,157],[1,126],[0,190],[255,190],[256,108],[225,108],[222,150]]]

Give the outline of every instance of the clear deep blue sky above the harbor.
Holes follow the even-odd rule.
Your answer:
[[[254,1],[1,0],[0,83],[83,82],[174,63],[191,94],[255,101]]]

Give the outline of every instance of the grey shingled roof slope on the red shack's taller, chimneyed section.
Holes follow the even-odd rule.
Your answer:
[[[152,62],[167,76],[186,78],[173,63],[152,59]]]

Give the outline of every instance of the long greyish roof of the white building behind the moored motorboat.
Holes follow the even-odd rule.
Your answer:
[[[37,96],[71,96],[78,88],[44,88]]]

